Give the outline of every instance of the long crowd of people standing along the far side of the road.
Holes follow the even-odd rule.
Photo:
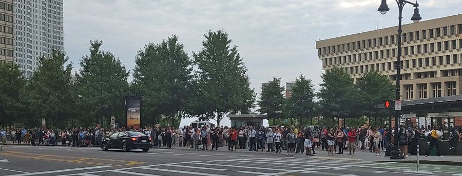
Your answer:
[[[130,128],[132,131],[139,131],[150,136],[153,147],[172,146],[185,147],[195,150],[218,150],[227,146],[229,151],[237,149],[248,149],[250,151],[264,151],[281,153],[286,150],[286,155],[293,153],[305,153],[307,156],[316,154],[315,148],[328,151],[329,156],[342,155],[344,149],[349,151],[348,155],[355,155],[356,148],[361,150],[369,149],[375,156],[381,156],[381,151],[386,149],[389,141],[398,140],[401,158],[409,155],[416,155],[417,141],[426,139],[429,143],[426,156],[433,147],[439,152],[439,141],[442,133],[438,127],[430,126],[399,126],[398,136],[394,136],[394,130],[389,133],[386,128],[358,126],[358,127],[216,127],[193,126],[175,127],[144,127]],[[24,143],[28,145],[59,145],[61,146],[93,146],[100,145],[102,140],[108,138],[115,131],[124,131],[124,127],[106,129],[99,127],[74,127],[68,129],[43,129],[43,128],[14,128],[7,132],[0,130],[2,144],[6,144],[6,136],[9,136],[13,143]],[[461,138],[462,128],[458,127],[451,131],[449,142],[450,150],[455,149]],[[338,152],[337,152],[338,151]]]

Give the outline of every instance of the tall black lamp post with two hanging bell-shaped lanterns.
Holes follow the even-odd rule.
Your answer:
[[[397,57],[397,60],[396,60],[396,65],[397,65],[397,68],[396,68],[396,95],[395,95],[395,99],[396,100],[399,100],[400,99],[400,84],[399,84],[399,81],[401,79],[401,74],[400,74],[400,71],[401,71],[401,33],[402,33],[402,26],[401,26],[401,19],[402,19],[402,9],[403,7],[406,5],[406,4],[411,4],[415,7],[414,9],[414,14],[412,15],[412,18],[411,20],[414,21],[414,23],[417,23],[420,19],[422,19],[422,17],[420,17],[420,14],[419,14],[419,4],[417,2],[415,3],[411,3],[409,1],[406,1],[406,0],[395,0],[396,3],[398,4],[398,9],[399,9],[399,23],[398,23],[398,57]],[[377,11],[379,11],[382,15],[386,14],[388,11],[390,10],[390,8],[388,8],[388,5],[387,5],[387,0],[382,0],[382,4],[379,6],[379,8],[377,9]],[[396,110],[395,109],[395,133],[394,133],[394,136],[395,136],[395,140],[393,141],[393,150],[391,151],[391,157],[390,159],[396,159],[396,160],[399,160],[401,159],[401,157],[399,156],[399,148],[398,148],[398,123],[399,123],[399,116],[400,116],[400,111]]]

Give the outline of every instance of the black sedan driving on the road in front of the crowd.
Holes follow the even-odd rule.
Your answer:
[[[122,149],[123,151],[140,148],[143,151],[148,151],[151,147],[150,137],[134,131],[115,132],[109,139],[104,139],[101,144],[104,151],[109,148]]]

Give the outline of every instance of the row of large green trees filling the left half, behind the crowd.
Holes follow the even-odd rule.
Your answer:
[[[143,124],[178,126],[182,117],[215,119],[228,113],[248,113],[255,93],[247,69],[222,30],[208,31],[202,50],[189,57],[178,37],[148,43],[130,72],[102,41],[90,41],[90,55],[82,57],[72,80],[72,63],[62,51],[39,59],[30,79],[16,65],[0,64],[0,123],[2,126],[40,126],[45,118],[52,127],[87,126],[109,117],[123,124],[124,96],[143,96]],[[197,68],[194,69],[193,68]]]

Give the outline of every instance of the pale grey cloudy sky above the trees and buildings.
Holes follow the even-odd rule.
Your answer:
[[[89,55],[90,40],[118,57],[127,70],[137,52],[175,34],[189,56],[202,49],[208,30],[222,29],[238,46],[257,99],[261,83],[281,77],[282,85],[301,74],[319,89],[322,61],[316,40],[398,24],[395,0],[381,15],[380,0],[72,0],[64,1],[64,50],[78,71]],[[420,0],[422,20],[460,14],[462,0]],[[412,23],[413,7],[403,10],[403,24]],[[129,81],[131,81],[131,76]],[[186,119],[189,124],[194,119]],[[230,121],[225,119],[224,125]]]

